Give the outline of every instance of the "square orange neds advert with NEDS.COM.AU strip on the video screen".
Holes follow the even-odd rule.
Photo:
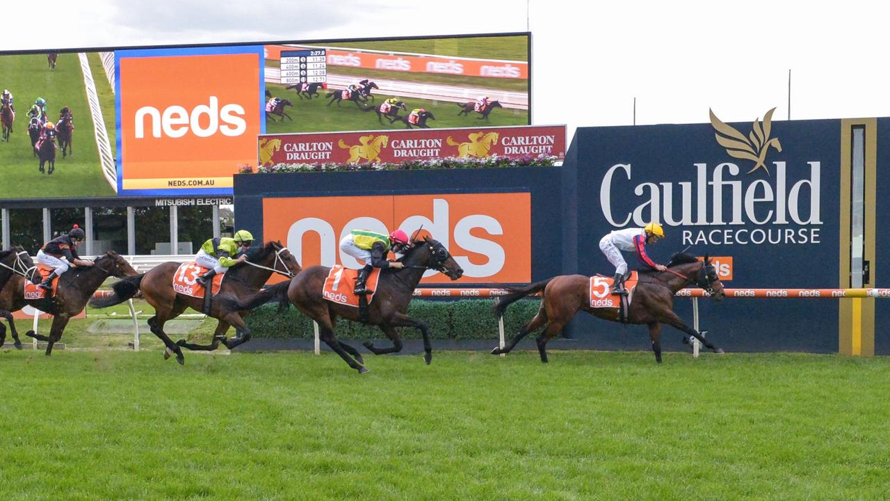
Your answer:
[[[119,187],[231,188],[262,132],[258,53],[122,56],[118,68]]]

